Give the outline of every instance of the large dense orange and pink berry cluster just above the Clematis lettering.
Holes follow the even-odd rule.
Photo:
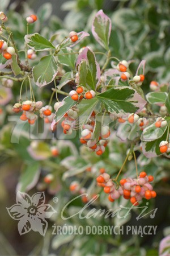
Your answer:
[[[96,178],[97,184],[100,187],[104,187],[104,192],[108,193],[108,199],[114,202],[120,196],[124,196],[125,199],[129,200],[134,205],[138,205],[138,201],[142,198],[150,200],[152,197],[156,197],[156,192],[153,191],[151,181],[154,177],[146,174],[146,172],[141,172],[138,179],[126,178],[120,180],[120,187],[117,189],[117,185],[110,178],[110,175],[103,173]]]

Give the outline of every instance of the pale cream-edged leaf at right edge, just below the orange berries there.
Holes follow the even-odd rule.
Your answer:
[[[152,125],[147,126],[143,130],[142,141],[155,141],[155,139],[159,139],[163,136],[165,130],[167,130],[167,126],[157,128],[155,123],[152,123]]]

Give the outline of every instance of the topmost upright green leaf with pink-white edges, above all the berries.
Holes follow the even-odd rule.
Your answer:
[[[100,10],[92,22],[92,34],[96,41],[105,49],[109,49],[109,38],[111,35],[111,19]]]

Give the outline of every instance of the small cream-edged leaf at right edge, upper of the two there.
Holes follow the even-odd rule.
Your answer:
[[[150,92],[146,99],[150,104],[165,104],[168,94],[166,92]]]

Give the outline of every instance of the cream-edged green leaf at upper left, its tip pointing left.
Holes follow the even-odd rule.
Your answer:
[[[49,49],[56,49],[49,40],[41,36],[39,33],[25,35],[25,42],[34,51],[47,51]]]

